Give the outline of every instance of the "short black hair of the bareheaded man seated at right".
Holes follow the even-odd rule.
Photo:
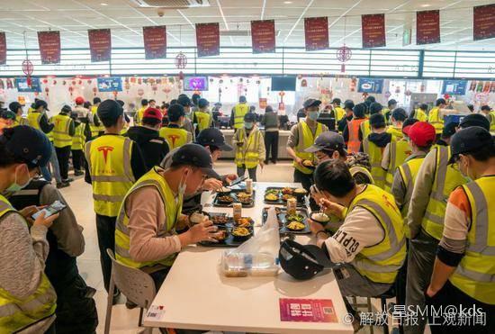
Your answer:
[[[327,191],[338,198],[349,194],[356,187],[349,167],[339,159],[320,163],[314,172],[314,181],[320,191]]]

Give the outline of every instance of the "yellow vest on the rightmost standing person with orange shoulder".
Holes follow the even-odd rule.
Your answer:
[[[480,302],[495,304],[495,176],[463,185],[471,204],[472,225],[461,263],[449,280]]]

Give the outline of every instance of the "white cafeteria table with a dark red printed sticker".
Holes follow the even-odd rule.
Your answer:
[[[268,186],[301,186],[290,183],[254,183],[255,206],[243,208],[243,217],[251,217],[259,228],[263,202]],[[212,203],[213,195],[203,195],[203,203]],[[205,198],[206,197],[206,198]],[[203,205],[205,212],[229,212],[231,208]],[[309,236],[298,236],[298,242],[307,244]],[[352,333],[344,323],[347,314],[342,295],[333,273],[318,275],[308,281],[296,281],[280,271],[267,277],[224,277],[220,275],[220,254],[232,248],[184,248],[175,259],[166,281],[157,293],[146,316],[148,327],[175,329],[205,329],[257,333]],[[288,322],[280,320],[279,299],[331,299],[338,322]],[[159,315],[157,315],[159,313]]]

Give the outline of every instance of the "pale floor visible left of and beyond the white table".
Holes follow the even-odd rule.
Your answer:
[[[235,173],[236,167],[231,161],[220,161],[215,164],[219,174]],[[276,165],[270,164],[263,170],[258,170],[258,181],[266,182],[292,182],[293,168],[289,162],[281,162]],[[106,311],[106,292],[103,288],[103,276],[100,267],[100,254],[98,250],[96,230],[94,224],[93,200],[91,186],[85,184],[82,178],[76,179],[70,187],[62,189],[67,203],[76,213],[77,221],[84,227],[85,235],[85,253],[77,258],[77,264],[81,275],[90,286],[96,288],[97,293],[94,298],[98,308],[100,326],[98,333],[103,333],[104,317]],[[125,308],[124,298],[121,302],[113,307],[112,311],[112,333],[138,333],[139,310],[127,310]],[[158,332],[155,330],[154,332]],[[360,332],[367,333],[369,329]],[[381,332],[381,329],[375,329],[375,333]]]

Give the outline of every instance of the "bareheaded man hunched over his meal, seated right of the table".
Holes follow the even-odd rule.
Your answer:
[[[406,257],[401,212],[392,194],[375,185],[356,185],[338,159],[322,162],[314,180],[322,196],[321,210],[344,219],[332,237],[323,225],[310,220],[317,245],[340,264],[334,273],[341,293],[362,297],[386,293]],[[347,208],[345,214],[342,207]]]

